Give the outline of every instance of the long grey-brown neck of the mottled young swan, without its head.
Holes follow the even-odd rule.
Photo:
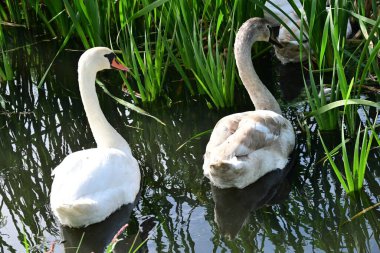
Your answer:
[[[280,105],[270,91],[261,82],[253,67],[251,59],[251,48],[255,40],[248,31],[241,28],[235,41],[235,59],[239,76],[255,105],[256,110],[271,110],[282,114]]]

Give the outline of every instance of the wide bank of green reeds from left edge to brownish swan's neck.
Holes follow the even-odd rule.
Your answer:
[[[38,25],[46,35],[59,38],[62,46],[56,57],[73,41],[84,48],[117,43],[133,69],[133,80],[125,82],[136,103],[136,92],[143,102],[167,97],[168,91],[175,89],[167,75],[174,67],[187,92],[205,94],[210,106],[217,108],[234,103],[235,31],[247,18],[262,15],[256,3],[241,0],[64,0],[43,4],[20,0],[19,4],[5,1],[1,8],[7,20],[30,29]],[[255,45],[256,52],[258,48]]]

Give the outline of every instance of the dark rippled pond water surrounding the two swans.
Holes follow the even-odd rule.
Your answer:
[[[49,49],[40,50],[49,55]],[[46,252],[51,245],[54,252],[76,252],[83,233],[80,252],[90,252],[104,247],[126,223],[116,252],[128,252],[134,240],[146,240],[141,252],[380,252],[379,209],[350,221],[380,201],[379,151],[371,153],[365,190],[348,197],[321,161],[324,152],[315,124],[308,122],[310,145],[298,124],[304,103],[283,103],[297,133],[287,173],[274,171],[246,189],[219,190],[204,178],[209,135],[177,150],[221,117],[252,110],[241,88],[236,107],[229,110],[209,110],[200,97],[143,107],[166,126],[129,112],[98,89],[107,118],[139,161],[141,196],[135,206],[123,207],[101,224],[61,228],[49,209],[51,171],[71,152],[95,146],[79,98],[79,54],[66,52],[57,59],[41,89],[36,88],[38,70],[46,69],[46,62],[20,54],[13,58],[15,79],[0,87],[8,102],[8,113],[0,115],[0,252],[25,252],[25,242],[30,252]],[[294,76],[291,70],[263,62],[269,62],[270,70],[259,74],[271,91],[277,97],[294,97],[302,83],[281,81],[284,74]],[[120,91],[117,73],[101,73],[99,78],[114,95],[129,100]],[[339,143],[339,133],[324,137],[330,147]]]

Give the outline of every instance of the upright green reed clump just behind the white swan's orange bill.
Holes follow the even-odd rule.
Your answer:
[[[159,2],[159,3],[157,3]],[[157,1],[149,4],[141,1],[144,8],[136,9],[120,2],[119,20],[121,22],[118,45],[122,49],[123,59],[131,66],[131,75],[137,85],[140,98],[143,102],[156,100],[164,94],[164,84],[167,81],[166,74],[169,67],[167,54],[167,41],[169,29],[164,29],[167,16],[170,15],[172,4],[168,7],[160,6],[165,1]],[[155,7],[155,9],[154,9]],[[161,7],[163,11],[157,8]],[[124,13],[133,13],[131,18],[123,20]],[[143,23],[144,29],[136,29],[138,22]],[[152,25],[153,24],[153,25]],[[130,94],[137,102],[131,84],[124,79]]]

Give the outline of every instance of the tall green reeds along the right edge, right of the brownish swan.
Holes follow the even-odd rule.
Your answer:
[[[299,26],[301,37],[297,38],[300,59],[305,54],[308,58],[306,64],[302,63],[303,69],[307,70],[303,72],[304,76],[308,76],[310,83],[307,85],[304,77],[311,109],[308,116],[315,118],[322,131],[341,129],[341,144],[332,151],[328,151],[320,138],[341,185],[347,192],[353,192],[363,186],[372,140],[378,140],[376,127],[370,123],[361,127],[357,113],[360,107],[368,110],[380,108],[380,104],[370,98],[361,98],[363,88],[378,82],[380,77],[377,61],[380,18],[376,1],[357,1],[354,5],[352,1],[336,0],[329,7],[326,7],[326,1],[301,2],[305,13],[298,9],[295,11],[302,20]],[[362,37],[355,40],[346,38],[349,18],[359,24]],[[303,43],[304,37],[307,37],[308,44]],[[330,89],[330,94],[324,92],[325,88]],[[364,133],[361,135],[362,129]],[[346,147],[350,139],[347,140],[347,136],[355,135],[354,154],[350,161]],[[339,150],[343,157],[344,175],[333,159],[333,153]]]

